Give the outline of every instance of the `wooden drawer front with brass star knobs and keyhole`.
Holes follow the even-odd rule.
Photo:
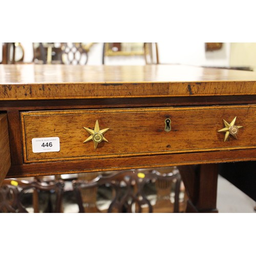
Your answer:
[[[255,148],[255,110],[255,105],[241,105],[22,112],[24,161]],[[226,133],[218,131],[225,127],[223,119],[230,124],[234,117],[237,117],[235,125],[243,127],[235,136],[237,139],[230,135],[224,142]],[[166,119],[170,119],[170,131],[165,131]],[[59,138],[56,152],[33,150],[32,139],[56,137]]]

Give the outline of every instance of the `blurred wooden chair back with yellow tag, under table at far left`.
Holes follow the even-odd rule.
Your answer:
[[[61,212],[61,180],[5,179],[0,187],[0,212]]]

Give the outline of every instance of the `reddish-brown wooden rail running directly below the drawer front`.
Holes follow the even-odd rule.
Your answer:
[[[256,161],[256,149],[79,159],[12,165],[7,177],[33,177],[194,164]]]

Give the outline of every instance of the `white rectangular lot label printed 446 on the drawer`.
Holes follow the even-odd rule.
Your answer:
[[[59,152],[59,137],[32,139],[33,153]]]

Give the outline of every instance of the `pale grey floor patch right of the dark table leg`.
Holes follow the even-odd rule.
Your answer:
[[[222,213],[255,213],[256,202],[219,175],[217,208]]]

